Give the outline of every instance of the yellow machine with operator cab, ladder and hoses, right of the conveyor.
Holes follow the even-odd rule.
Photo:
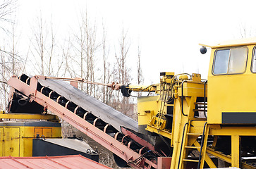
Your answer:
[[[256,168],[256,39],[202,46],[208,81],[161,73],[159,84],[126,87],[158,94],[138,98],[140,132],[171,139],[172,169]]]

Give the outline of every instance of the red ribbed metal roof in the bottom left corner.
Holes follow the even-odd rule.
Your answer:
[[[80,155],[54,157],[0,157],[0,168],[45,168],[45,169],[111,169]]]

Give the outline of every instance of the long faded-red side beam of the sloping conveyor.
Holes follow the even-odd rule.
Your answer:
[[[25,94],[26,96],[29,96],[31,99],[30,101],[34,100],[38,104],[44,107],[47,107],[49,111],[58,115],[59,118],[66,120],[66,122],[70,123],[81,132],[87,134],[88,137],[91,137],[99,144],[102,144],[102,146],[106,147],[106,149],[109,149],[109,151],[113,152],[123,160],[133,161],[141,156],[140,154],[129,149],[127,146],[121,144],[121,142],[118,142],[118,140],[109,136],[102,130],[99,130],[94,125],[88,123],[86,120],[83,120],[83,118],[80,118],[78,115],[75,115],[75,113],[73,113],[72,111],[69,111],[67,108],[61,106],[56,101],[50,99],[49,97],[45,96],[41,92],[38,92],[37,91],[38,79],[45,79],[45,77],[44,76],[32,77],[30,79],[30,85],[25,84],[24,82],[19,80],[18,77],[11,77],[10,80],[8,80],[8,84],[11,87]],[[148,167],[145,166],[146,163]],[[157,168],[157,164],[153,163],[147,158],[142,158],[142,161],[140,161],[140,163],[129,164],[129,165],[132,166],[133,168],[150,168],[151,166],[152,168]]]

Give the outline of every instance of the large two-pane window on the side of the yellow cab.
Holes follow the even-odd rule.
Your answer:
[[[218,50],[214,57],[214,75],[244,73],[248,49],[246,47]]]

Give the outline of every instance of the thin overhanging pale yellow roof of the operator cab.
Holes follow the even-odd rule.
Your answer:
[[[219,44],[214,44],[214,45],[207,45],[207,44],[199,44],[199,45],[215,49],[215,48],[221,48],[221,47],[247,46],[247,45],[253,45],[253,44],[256,44],[256,37],[228,40],[228,41],[221,42]]]

